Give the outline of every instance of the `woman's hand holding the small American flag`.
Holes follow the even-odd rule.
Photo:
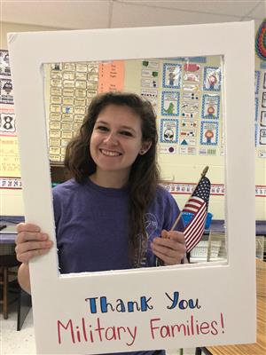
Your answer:
[[[180,264],[186,253],[184,233],[163,230],[161,238],[154,238],[151,247],[153,254],[158,256],[164,264]]]

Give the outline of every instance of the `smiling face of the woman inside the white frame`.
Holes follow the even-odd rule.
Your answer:
[[[129,174],[142,149],[141,119],[129,106],[106,106],[95,122],[90,138],[90,154],[97,171]]]

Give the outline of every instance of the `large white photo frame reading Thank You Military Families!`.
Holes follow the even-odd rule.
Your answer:
[[[228,261],[60,275],[53,247],[30,263],[37,353],[254,343],[254,23],[14,33],[8,42],[26,221],[53,241],[43,63],[208,55],[224,60]],[[100,297],[113,304],[113,312],[102,312]],[[95,299],[95,313],[88,299]],[[139,311],[129,312],[131,301]]]

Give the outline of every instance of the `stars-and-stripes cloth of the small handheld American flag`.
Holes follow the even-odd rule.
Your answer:
[[[194,215],[191,222],[184,229],[187,252],[191,251],[199,243],[204,232],[210,186],[209,179],[201,177],[200,183],[192,193],[192,197],[184,205],[183,212],[190,212]]]

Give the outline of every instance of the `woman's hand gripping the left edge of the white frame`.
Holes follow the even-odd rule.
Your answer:
[[[46,254],[53,244],[48,234],[42,233],[37,225],[20,223],[17,232],[15,251],[21,263],[27,264],[33,257]]]

